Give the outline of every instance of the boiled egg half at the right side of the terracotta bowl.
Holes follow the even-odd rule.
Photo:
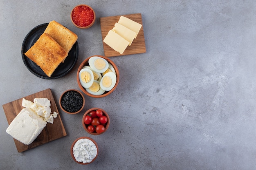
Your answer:
[[[100,86],[104,91],[110,91],[117,82],[117,76],[113,72],[103,75]]]

